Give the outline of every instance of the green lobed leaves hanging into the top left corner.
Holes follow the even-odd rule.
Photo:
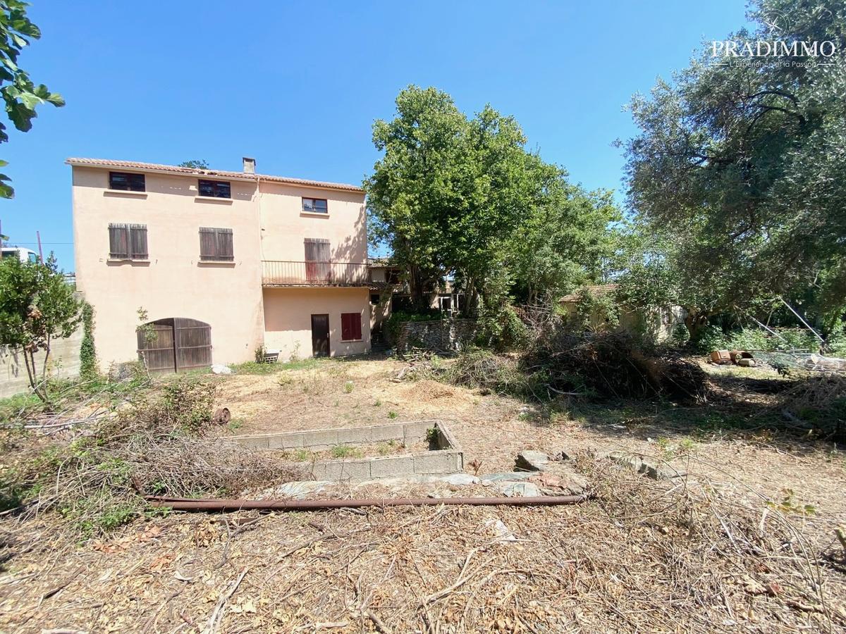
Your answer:
[[[64,99],[50,92],[46,85],[35,85],[30,75],[18,66],[18,56],[30,40],[41,37],[41,30],[26,17],[28,3],[19,0],[0,0],[0,95],[6,107],[9,121],[21,132],[32,128],[32,119],[37,117],[36,107],[44,103],[64,106]],[[8,141],[6,125],[0,123],[0,143]],[[0,167],[8,165],[0,161]],[[0,174],[0,197],[12,198],[14,189],[9,178]]]

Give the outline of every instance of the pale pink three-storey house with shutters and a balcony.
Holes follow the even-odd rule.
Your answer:
[[[77,288],[103,369],[179,370],[370,349],[354,185],[71,158]]]

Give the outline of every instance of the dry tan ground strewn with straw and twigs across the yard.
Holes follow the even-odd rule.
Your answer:
[[[846,524],[846,453],[832,443],[715,423],[708,406],[541,407],[395,380],[403,367],[327,360],[215,377],[218,405],[233,418],[218,433],[441,419],[465,466],[475,465],[469,473],[510,470],[524,449],[566,451],[596,484],[596,500],[173,513],[85,544],[68,544],[49,518],[25,531],[8,521],[15,554],[0,573],[0,631],[846,628],[846,568],[834,535]],[[753,401],[767,396],[750,379],[778,380],[761,370],[708,371]],[[613,450],[687,476],[656,482],[596,457]]]

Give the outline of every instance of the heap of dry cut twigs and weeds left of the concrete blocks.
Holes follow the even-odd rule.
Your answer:
[[[153,512],[143,495],[235,495],[296,479],[288,465],[204,437],[214,391],[201,380],[170,380],[88,426],[49,438],[9,433],[3,506],[22,519],[57,511],[87,537]]]

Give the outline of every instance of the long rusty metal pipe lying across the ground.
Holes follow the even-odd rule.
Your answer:
[[[365,500],[191,500],[148,496],[151,506],[166,506],[174,511],[319,511],[358,509],[363,506],[558,506],[579,504],[585,495],[540,495],[525,498],[384,498]]]

